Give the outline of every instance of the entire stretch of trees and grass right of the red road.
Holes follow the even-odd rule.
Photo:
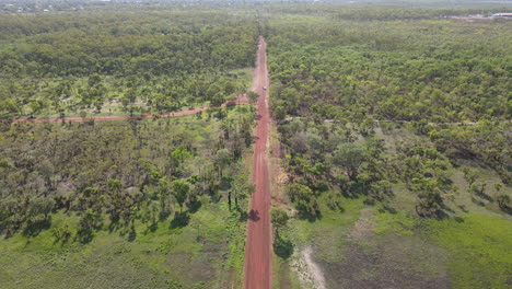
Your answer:
[[[282,235],[292,258],[314,250],[328,288],[510,285],[512,22],[446,18],[474,12],[267,14]]]

